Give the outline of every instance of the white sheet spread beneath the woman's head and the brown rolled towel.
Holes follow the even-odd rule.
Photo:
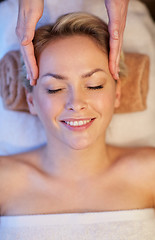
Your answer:
[[[0,58],[7,51],[19,49],[15,35],[17,2],[7,0],[0,4]],[[78,10],[91,12],[107,21],[103,0],[46,0],[39,25],[54,21],[62,13]],[[155,25],[146,7],[136,0],[130,0],[129,4],[124,50],[150,56],[148,109],[132,114],[116,114],[107,131],[107,142],[121,146],[155,146]],[[34,148],[46,141],[37,118],[5,110],[1,99],[0,116],[0,155]]]

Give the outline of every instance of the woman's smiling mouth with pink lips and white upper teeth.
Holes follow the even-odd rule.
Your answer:
[[[87,119],[65,119],[62,120],[61,123],[64,124],[70,130],[84,130],[88,128],[95,118],[87,118]]]

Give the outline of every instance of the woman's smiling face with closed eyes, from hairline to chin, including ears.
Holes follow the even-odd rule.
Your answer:
[[[119,96],[107,56],[91,38],[69,36],[51,41],[41,53],[39,79],[28,102],[47,139],[84,149],[103,143]]]

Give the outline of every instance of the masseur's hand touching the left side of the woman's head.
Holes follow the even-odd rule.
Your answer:
[[[31,85],[35,85],[38,78],[38,66],[34,56],[32,40],[36,24],[43,14],[43,9],[44,0],[19,0],[16,34],[26,65],[27,78]]]

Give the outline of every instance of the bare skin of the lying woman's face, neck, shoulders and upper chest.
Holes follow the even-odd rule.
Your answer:
[[[94,69],[104,71],[92,73]],[[56,76],[45,77],[47,73]],[[104,88],[90,89],[102,84]],[[108,58],[92,39],[71,36],[50,42],[40,55],[39,79],[27,100],[48,143],[0,158],[1,215],[154,207],[155,149],[105,143],[119,106],[120,83],[111,77]],[[61,122],[81,117],[95,120],[79,131]]]

